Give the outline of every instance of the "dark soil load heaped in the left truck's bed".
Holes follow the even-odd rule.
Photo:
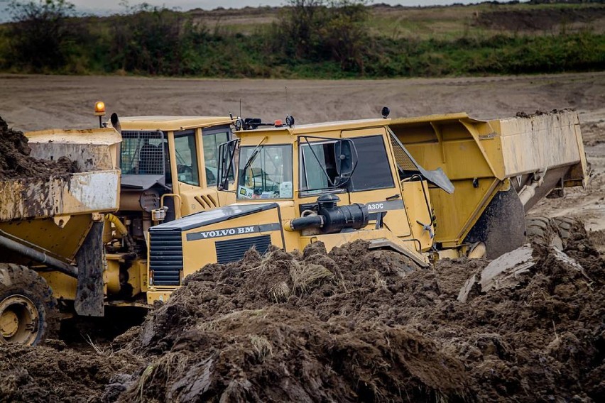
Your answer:
[[[39,178],[79,172],[77,164],[69,158],[57,161],[37,160],[29,156],[28,139],[21,131],[9,129],[0,117],[0,180]]]

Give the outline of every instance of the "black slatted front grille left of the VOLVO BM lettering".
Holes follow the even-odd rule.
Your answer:
[[[180,285],[182,238],[180,231],[149,233],[149,269],[153,285]]]

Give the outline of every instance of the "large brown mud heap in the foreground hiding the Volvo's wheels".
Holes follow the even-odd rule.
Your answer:
[[[604,262],[584,236],[566,252],[583,270],[535,245],[515,287],[475,289],[463,303],[459,290],[486,261],[410,272],[361,241],[251,251],[187,277],[116,340],[147,364],[116,374],[104,401],[596,401]]]

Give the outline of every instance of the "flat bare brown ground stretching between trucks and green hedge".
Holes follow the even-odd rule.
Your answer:
[[[96,124],[94,102],[121,116],[295,116],[297,123],[465,111],[475,118],[503,118],[518,111],[575,108],[582,122],[593,176],[587,189],[547,199],[536,211],[584,219],[605,229],[605,72],[388,80],[163,79],[0,74],[0,116],[23,131],[87,128]]]

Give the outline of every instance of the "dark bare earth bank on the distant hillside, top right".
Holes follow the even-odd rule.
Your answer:
[[[564,29],[573,23],[592,23],[605,18],[602,7],[503,10],[481,12],[474,24],[506,31],[552,31]]]

